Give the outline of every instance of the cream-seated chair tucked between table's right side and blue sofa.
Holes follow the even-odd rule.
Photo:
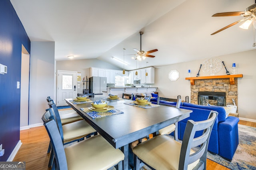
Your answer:
[[[164,103],[160,103],[160,100],[169,101],[169,102],[176,102],[176,108],[180,108],[180,103],[181,103],[181,99],[180,98],[178,98],[178,99],[171,99],[171,98],[162,98],[162,97],[158,96],[156,104],[169,106],[169,105],[166,105]],[[174,139],[176,141],[178,141],[178,122],[176,122],[175,124],[169,125],[167,127],[164,127],[163,129],[160,129],[159,130],[159,135],[170,134],[173,131],[174,131]]]

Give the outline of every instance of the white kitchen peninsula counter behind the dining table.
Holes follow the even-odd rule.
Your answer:
[[[127,94],[138,94],[146,93],[147,95],[150,95],[151,93],[156,92],[157,87],[107,87],[106,94],[103,94],[104,96],[108,96],[108,94],[118,95],[119,98],[122,98],[123,93]],[[105,92],[103,92],[105,93]]]

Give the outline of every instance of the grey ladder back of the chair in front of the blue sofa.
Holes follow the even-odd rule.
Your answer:
[[[188,164],[195,162],[200,159],[201,168],[206,165],[206,154],[210,139],[210,134],[212,132],[212,127],[216,120],[218,112],[211,111],[209,117],[205,121],[192,121],[188,120],[184,132],[184,137],[182,141],[181,151],[180,151],[180,162],[179,170],[187,169]],[[199,137],[194,138],[196,131],[203,131],[203,134]],[[190,150],[193,147],[200,146],[200,149],[195,153],[190,154]],[[204,169],[206,169],[204,167]]]

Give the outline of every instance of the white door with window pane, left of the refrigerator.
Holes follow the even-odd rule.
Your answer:
[[[76,98],[77,72],[58,70],[57,106],[67,106],[65,99]]]

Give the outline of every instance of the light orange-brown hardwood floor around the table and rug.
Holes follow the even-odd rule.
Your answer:
[[[239,124],[256,127],[256,123],[239,121]],[[33,127],[20,131],[22,146],[13,161],[25,161],[26,170],[50,170],[48,168],[49,154],[47,149],[49,137],[44,126]],[[212,160],[207,159],[207,170],[229,170]]]

